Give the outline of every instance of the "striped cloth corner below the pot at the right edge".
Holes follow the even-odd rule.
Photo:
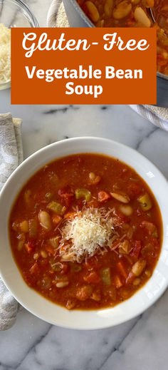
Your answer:
[[[159,128],[168,131],[168,109],[157,106],[130,106],[135,112],[142,115]]]

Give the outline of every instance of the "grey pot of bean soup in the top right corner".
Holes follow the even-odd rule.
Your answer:
[[[63,0],[73,27],[157,29],[157,105],[168,107],[167,0]]]

